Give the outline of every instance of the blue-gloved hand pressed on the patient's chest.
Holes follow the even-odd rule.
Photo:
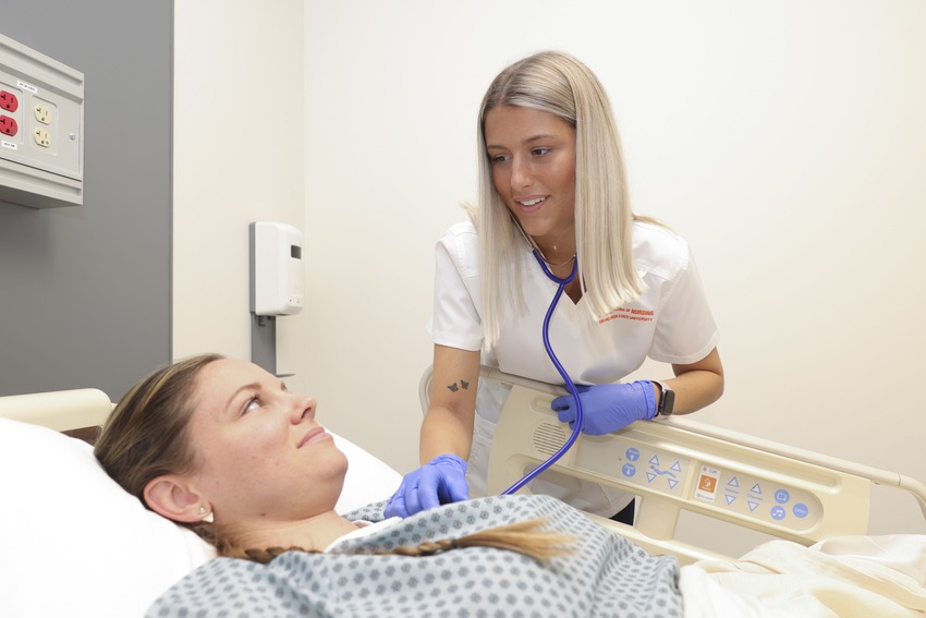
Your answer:
[[[455,455],[439,455],[402,478],[399,490],[386,505],[383,514],[409,517],[448,502],[470,499],[466,462]]]

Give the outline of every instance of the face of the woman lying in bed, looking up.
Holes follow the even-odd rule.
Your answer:
[[[315,420],[314,399],[234,359],[206,365],[195,391],[193,477],[217,522],[305,519],[334,507],[348,460]]]

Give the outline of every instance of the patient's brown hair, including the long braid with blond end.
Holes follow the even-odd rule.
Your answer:
[[[220,354],[200,354],[157,368],[119,401],[94,447],[106,472],[126,492],[145,502],[145,487],[162,474],[192,472],[196,457],[187,438],[188,421],[197,405],[196,377]],[[219,522],[176,522],[216,546],[220,556],[269,561],[289,548],[245,548],[222,533]],[[423,543],[388,552],[427,556],[462,547],[510,549],[537,560],[566,552],[570,535],[540,530],[541,520],[499,526],[458,540]]]

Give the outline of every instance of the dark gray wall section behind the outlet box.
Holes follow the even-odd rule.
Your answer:
[[[3,0],[0,32],[82,71],[84,205],[0,202],[0,395],[118,399],[171,358],[173,2]]]

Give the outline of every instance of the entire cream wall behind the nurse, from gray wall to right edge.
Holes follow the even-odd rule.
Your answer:
[[[248,353],[246,223],[301,226],[281,368],[331,428],[415,465],[432,246],[475,195],[479,98],[559,48],[611,95],[636,210],[696,252],[728,375],[697,419],[926,478],[926,3],[241,0],[176,20],[175,355]],[[229,130],[241,85],[304,109],[292,140]],[[876,521],[922,532],[907,507]]]

